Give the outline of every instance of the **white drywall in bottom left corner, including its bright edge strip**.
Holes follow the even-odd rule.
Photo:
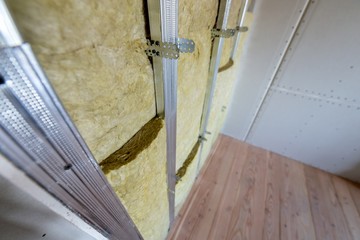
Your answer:
[[[106,239],[0,155],[0,239]]]

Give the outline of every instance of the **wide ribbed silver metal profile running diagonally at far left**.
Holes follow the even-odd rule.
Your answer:
[[[109,239],[142,239],[0,0],[0,153]]]

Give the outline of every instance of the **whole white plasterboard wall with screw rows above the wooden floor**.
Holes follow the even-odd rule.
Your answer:
[[[360,1],[311,1],[296,30],[305,3],[256,2],[223,132],[360,182]]]

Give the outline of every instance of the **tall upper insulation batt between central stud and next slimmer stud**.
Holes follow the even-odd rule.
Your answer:
[[[179,169],[199,136],[211,54],[211,29],[218,1],[179,1],[179,37],[195,42],[195,51],[180,54],[178,66],[177,163]]]

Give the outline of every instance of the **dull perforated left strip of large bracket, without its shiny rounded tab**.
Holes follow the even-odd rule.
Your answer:
[[[176,44],[148,40],[147,45],[149,47],[145,50],[145,53],[149,57],[179,58],[179,48]]]

